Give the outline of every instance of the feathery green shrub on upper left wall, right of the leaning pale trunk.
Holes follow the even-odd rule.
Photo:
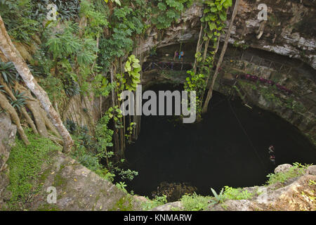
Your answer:
[[[51,23],[51,27],[57,23]],[[88,83],[93,73],[90,66],[97,57],[96,40],[87,36],[79,38],[79,27],[76,23],[65,22],[62,31],[51,35],[47,42],[48,58],[52,58],[51,69],[55,70],[55,77],[60,77],[67,96],[88,92]],[[49,70],[51,71],[51,70]],[[79,86],[78,86],[79,85]]]

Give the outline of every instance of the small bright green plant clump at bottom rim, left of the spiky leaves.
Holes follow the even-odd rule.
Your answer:
[[[202,211],[209,206],[210,200],[210,196],[202,196],[193,193],[192,195],[183,195],[181,203],[185,211]]]

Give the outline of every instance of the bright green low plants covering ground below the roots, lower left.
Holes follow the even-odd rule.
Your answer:
[[[16,139],[8,159],[10,168],[8,191],[12,192],[8,205],[11,210],[20,210],[23,204],[32,202],[32,196],[40,187],[38,179],[41,165],[48,161],[48,153],[60,150],[52,141],[36,136],[30,130],[27,130],[26,134],[29,146]]]

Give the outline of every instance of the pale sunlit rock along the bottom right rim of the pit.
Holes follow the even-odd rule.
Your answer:
[[[276,171],[287,172],[291,165],[279,165]],[[292,167],[292,166],[291,166]],[[305,169],[305,174],[296,176],[284,183],[276,182],[270,186],[242,188],[254,197],[242,200],[224,200],[216,205],[210,204],[206,211],[315,211],[316,210],[316,166]],[[210,203],[212,202],[210,198]],[[181,202],[167,203],[154,208],[155,211],[183,209]]]

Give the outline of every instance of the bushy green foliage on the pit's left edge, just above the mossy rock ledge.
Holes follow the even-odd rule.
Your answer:
[[[118,114],[117,114],[118,113]],[[75,140],[75,150],[72,157],[78,160],[88,169],[93,170],[103,179],[113,181],[115,174],[121,179],[131,181],[138,172],[131,169],[121,169],[124,160],[114,162],[112,152],[112,129],[108,128],[108,123],[112,117],[119,115],[119,108],[110,108],[105,115],[98,121],[95,129],[95,139],[88,134],[86,127],[80,127],[71,120],[66,121],[66,127]],[[102,165],[101,161],[105,161],[106,165]]]

